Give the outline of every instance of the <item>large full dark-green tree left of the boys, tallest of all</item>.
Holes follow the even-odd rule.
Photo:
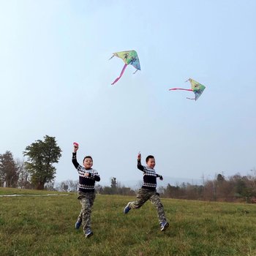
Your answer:
[[[44,139],[36,140],[23,152],[28,157],[25,168],[31,174],[31,184],[36,189],[44,189],[45,183],[55,178],[56,167],[53,164],[59,162],[61,157],[61,148],[57,146],[55,138],[45,135]]]

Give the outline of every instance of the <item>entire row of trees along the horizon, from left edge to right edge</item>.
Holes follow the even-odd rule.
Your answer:
[[[0,187],[20,189],[48,189],[64,192],[78,190],[78,181],[62,181],[55,186],[56,167],[59,162],[61,148],[54,137],[45,135],[44,140],[36,140],[25,148],[23,156],[27,160],[14,159],[11,151],[0,154]],[[122,186],[112,177],[110,186],[102,187],[97,184],[97,193],[105,195],[136,195],[136,189]],[[158,187],[162,197],[172,197],[187,200],[218,200],[218,201],[246,201],[256,203],[256,170],[252,175],[241,176],[236,173],[226,178],[221,173],[212,180],[204,180],[201,185],[189,183],[167,187]]]

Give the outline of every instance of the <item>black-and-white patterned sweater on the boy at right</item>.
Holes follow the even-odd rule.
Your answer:
[[[138,159],[139,170],[143,171],[143,189],[156,190],[157,189],[157,177],[161,177],[161,175],[157,174],[154,169],[149,168],[148,166],[141,165],[140,160]]]

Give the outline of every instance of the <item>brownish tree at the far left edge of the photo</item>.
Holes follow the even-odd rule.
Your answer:
[[[0,185],[6,187],[17,187],[18,167],[13,159],[12,153],[6,151],[0,155]]]

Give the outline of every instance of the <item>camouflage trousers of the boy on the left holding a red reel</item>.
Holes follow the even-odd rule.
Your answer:
[[[78,222],[83,222],[83,232],[91,230],[91,207],[94,204],[95,193],[83,193],[78,191],[78,200],[81,203],[81,211],[78,216]]]

